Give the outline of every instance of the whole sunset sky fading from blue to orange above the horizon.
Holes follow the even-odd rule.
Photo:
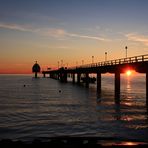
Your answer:
[[[125,46],[148,53],[148,0],[0,0],[0,74],[124,58]]]

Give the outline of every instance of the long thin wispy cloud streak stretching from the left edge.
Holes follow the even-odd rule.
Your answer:
[[[50,36],[58,39],[75,37],[75,38],[84,38],[84,39],[91,39],[91,40],[98,40],[98,41],[110,41],[109,39],[98,37],[98,36],[89,36],[89,35],[70,33],[61,28],[35,28],[31,25],[6,24],[6,23],[0,23],[0,28],[23,31],[23,32],[33,32],[33,33],[38,33],[42,36]]]

